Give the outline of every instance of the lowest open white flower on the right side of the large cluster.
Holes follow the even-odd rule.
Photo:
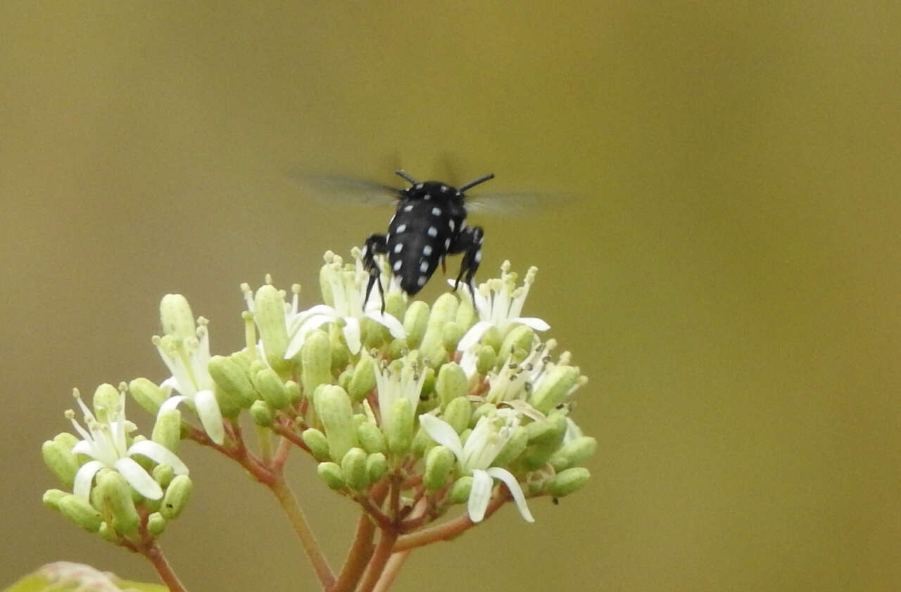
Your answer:
[[[493,413],[479,418],[466,444],[461,444],[460,435],[450,424],[438,417],[424,414],[419,416],[419,421],[432,440],[451,449],[457,457],[457,462],[460,463],[460,470],[464,474],[472,474],[472,489],[469,492],[467,507],[469,518],[473,522],[480,522],[485,517],[491,489],[496,479],[504,481],[523,519],[527,522],[535,521],[529,507],[526,506],[523,488],[513,473],[491,466],[519,426],[518,413],[513,409],[496,409]]]

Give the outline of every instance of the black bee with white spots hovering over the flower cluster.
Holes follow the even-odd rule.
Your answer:
[[[384,307],[378,255],[387,256],[401,289],[413,296],[428,283],[439,264],[444,266],[445,257],[463,253],[454,289],[463,281],[475,298],[474,278],[482,260],[485,232],[479,226],[466,225],[465,193],[495,175],[480,176],[460,187],[452,187],[440,181],[421,183],[403,170],[395,173],[410,186],[396,190],[397,210],[388,223],[387,234],[374,234],[363,246],[362,263],[369,272],[363,305],[369,300],[373,286],[378,284]]]

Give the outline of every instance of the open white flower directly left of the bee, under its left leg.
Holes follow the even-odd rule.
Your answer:
[[[357,260],[356,265],[345,267],[341,257],[328,251],[325,254],[325,265],[320,274],[323,283],[323,296],[325,300],[332,300],[332,305],[319,304],[311,309],[297,314],[288,327],[291,342],[285,352],[285,357],[293,357],[304,346],[307,335],[316,328],[326,323],[338,323],[341,332],[347,342],[350,354],[358,354],[360,343],[359,323],[363,318],[371,318],[380,325],[384,325],[391,332],[391,336],[405,337],[403,324],[393,315],[381,312],[381,300],[372,298],[370,294],[366,309],[363,309],[363,299],[366,297],[366,287],[369,274],[359,263],[359,249],[352,252]]]

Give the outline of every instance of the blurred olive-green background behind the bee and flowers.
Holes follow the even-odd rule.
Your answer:
[[[58,559],[153,579],[41,506],[71,388],[165,378],[165,292],[218,353],[242,281],[314,304],[323,251],[391,211],[286,173],[404,166],[542,193],[473,214],[479,277],[540,267],[525,314],[590,377],[599,446],[534,525],[507,507],[396,589],[901,587],[898,4],[587,4],[0,4],[0,584]],[[182,456],[196,497],[163,544],[187,586],[315,589],[268,492]],[[354,507],[291,472],[339,563]]]

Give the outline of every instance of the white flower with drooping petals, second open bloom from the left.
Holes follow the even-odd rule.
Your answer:
[[[180,294],[167,294],[160,303],[162,316],[165,317],[167,309],[174,307],[175,302],[179,307],[187,307],[187,300]],[[223,429],[223,416],[219,409],[219,403],[214,394],[214,381],[210,376],[207,365],[210,363],[210,339],[206,329],[208,321],[197,318],[196,330],[193,334],[188,331],[193,328],[194,320],[191,318],[190,309],[187,309],[187,318],[191,319],[190,325],[185,325],[179,332],[167,333],[165,336],[154,336],[153,345],[157,346],[163,363],[172,372],[160,386],[178,391],[178,395],[166,399],[159,407],[159,413],[178,407],[185,402],[193,408],[200,417],[200,423],[204,431],[216,444],[222,444],[225,440]],[[168,327],[163,322],[163,327]]]

